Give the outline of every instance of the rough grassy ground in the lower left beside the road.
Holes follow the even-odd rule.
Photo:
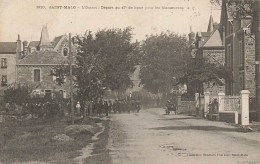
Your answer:
[[[77,124],[91,124],[96,127],[90,119],[78,121]],[[77,150],[91,142],[91,135],[66,134],[65,127],[68,125],[68,120],[60,117],[45,120],[6,120],[0,124],[0,162],[74,163],[73,158],[79,156]],[[95,130],[99,131],[97,127]],[[52,140],[57,134],[66,134],[74,140]]]

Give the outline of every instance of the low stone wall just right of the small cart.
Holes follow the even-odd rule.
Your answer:
[[[195,101],[179,101],[178,114],[196,115],[196,102]]]

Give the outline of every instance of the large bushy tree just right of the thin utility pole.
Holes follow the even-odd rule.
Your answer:
[[[100,98],[104,89],[132,86],[129,74],[134,71],[138,43],[131,43],[132,29],[103,29],[74,37],[77,47],[78,96],[82,102]]]

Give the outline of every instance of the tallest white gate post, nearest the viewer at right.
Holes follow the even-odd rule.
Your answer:
[[[249,93],[248,90],[240,91],[241,125],[249,125]]]

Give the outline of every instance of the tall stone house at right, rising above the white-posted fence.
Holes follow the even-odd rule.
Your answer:
[[[238,95],[249,90],[255,95],[255,40],[251,34],[251,16],[237,18],[236,4],[223,0],[221,9],[221,32],[225,44],[226,67],[232,77],[226,81],[226,94]]]

